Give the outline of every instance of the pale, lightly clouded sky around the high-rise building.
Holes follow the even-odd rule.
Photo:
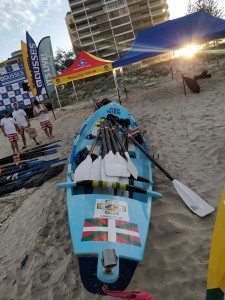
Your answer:
[[[192,1],[195,2],[195,1]],[[221,7],[224,0],[219,0]],[[167,0],[170,19],[186,14],[188,0]],[[0,59],[20,50],[21,40],[26,42],[26,31],[35,43],[50,36],[53,52],[58,48],[72,50],[65,16],[70,11],[68,0],[0,0]]]

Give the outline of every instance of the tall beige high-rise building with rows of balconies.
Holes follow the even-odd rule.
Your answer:
[[[74,48],[116,60],[139,30],[169,19],[166,0],[68,0]]]

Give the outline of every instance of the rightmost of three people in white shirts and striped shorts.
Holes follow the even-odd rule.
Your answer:
[[[52,123],[48,118],[48,110],[44,104],[40,104],[38,100],[34,100],[33,113],[35,117],[39,117],[41,128],[49,139],[54,138],[52,135]]]

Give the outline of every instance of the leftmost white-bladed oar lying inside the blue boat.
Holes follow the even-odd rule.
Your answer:
[[[77,166],[74,173],[74,181],[89,179],[92,167],[92,158],[91,154],[97,144],[97,140],[99,138],[100,132],[98,132],[94,142],[91,146],[91,149],[87,155],[87,157]]]

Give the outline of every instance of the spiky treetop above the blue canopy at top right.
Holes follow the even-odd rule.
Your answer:
[[[194,3],[191,0],[188,1],[187,14],[200,10],[218,18],[224,15],[224,7],[219,7],[218,0],[197,0]]]

